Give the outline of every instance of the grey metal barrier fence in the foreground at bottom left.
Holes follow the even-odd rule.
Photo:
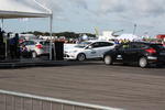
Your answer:
[[[0,90],[0,110],[122,110],[122,109]]]

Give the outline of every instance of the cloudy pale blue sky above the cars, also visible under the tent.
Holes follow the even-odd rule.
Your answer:
[[[16,0],[18,2],[22,0]],[[30,0],[29,0],[30,1]],[[53,32],[165,34],[165,0],[36,0],[53,10]],[[48,31],[48,19],[6,20],[11,32]],[[136,25],[136,26],[134,26]]]

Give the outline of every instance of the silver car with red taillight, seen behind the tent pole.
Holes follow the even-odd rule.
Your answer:
[[[45,40],[24,41],[21,43],[22,46],[25,46],[26,51],[32,53],[33,58],[50,54],[50,42]]]

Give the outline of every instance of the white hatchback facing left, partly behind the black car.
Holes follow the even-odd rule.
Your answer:
[[[102,58],[105,52],[114,48],[113,42],[87,41],[64,51],[65,59],[85,61],[89,58]]]

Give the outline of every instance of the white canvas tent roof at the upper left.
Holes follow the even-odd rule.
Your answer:
[[[47,18],[52,13],[34,0],[1,0],[0,19]]]

